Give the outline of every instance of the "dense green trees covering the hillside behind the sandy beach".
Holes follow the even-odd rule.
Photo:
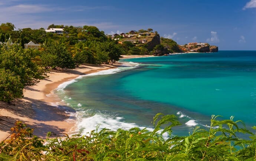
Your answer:
[[[24,86],[39,82],[51,69],[73,69],[82,63],[113,63],[125,54],[150,54],[146,43],[124,39],[120,44],[95,26],[50,24],[47,29],[50,28],[62,28],[64,32],[45,32],[43,28],[14,30],[16,27],[9,22],[0,25],[0,101],[21,98]],[[139,30],[147,32],[141,34],[141,40],[152,40],[157,34],[152,30]],[[24,44],[30,41],[41,44],[41,49],[24,49]]]

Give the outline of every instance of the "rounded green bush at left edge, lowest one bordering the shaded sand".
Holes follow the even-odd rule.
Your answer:
[[[9,69],[0,69],[0,101],[8,102],[23,96],[24,85],[20,76]]]

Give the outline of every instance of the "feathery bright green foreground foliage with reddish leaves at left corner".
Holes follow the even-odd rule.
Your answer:
[[[9,138],[0,143],[0,160],[255,160],[256,135],[233,116],[230,120],[218,118],[213,115],[206,129],[196,127],[185,137],[172,133],[172,128],[180,125],[176,116],[157,114],[152,121],[153,131],[104,128],[87,135],[47,138],[46,144],[33,136],[33,129],[18,121]],[[237,137],[241,134],[249,138]]]

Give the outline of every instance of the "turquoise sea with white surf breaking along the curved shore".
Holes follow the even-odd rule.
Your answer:
[[[212,115],[256,125],[256,51],[183,53],[121,59],[122,66],[79,76],[54,93],[76,110],[77,131],[154,129],[153,117],[176,115],[173,135],[207,128]]]

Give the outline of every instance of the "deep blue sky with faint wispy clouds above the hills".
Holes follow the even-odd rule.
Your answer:
[[[256,0],[1,0],[0,23],[96,26],[105,33],[152,28],[182,45],[256,50]]]

